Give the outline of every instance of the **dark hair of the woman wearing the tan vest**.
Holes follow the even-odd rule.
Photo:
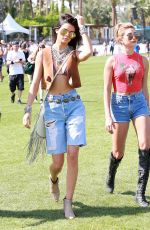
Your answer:
[[[60,16],[57,26],[53,28],[53,43],[55,43],[57,38],[56,29],[60,28],[65,23],[69,23],[75,28],[76,37],[68,43],[68,45],[72,46],[72,48],[75,50],[77,45],[79,45],[81,42],[81,35],[79,32],[77,19],[71,14],[62,14]]]

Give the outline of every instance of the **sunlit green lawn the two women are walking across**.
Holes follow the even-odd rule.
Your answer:
[[[92,57],[80,64],[80,93],[87,112],[87,146],[81,148],[79,177],[74,195],[74,220],[64,219],[66,165],[60,175],[61,197],[55,203],[49,194],[50,156],[32,165],[26,162],[25,147],[30,131],[22,126],[24,105],[10,103],[8,77],[0,83],[0,229],[38,230],[148,230],[150,208],[134,201],[137,184],[137,140],[132,127],[126,154],[116,176],[115,193],[105,192],[111,135],[105,131],[103,107],[103,68],[106,57]],[[25,78],[25,103],[28,93]],[[39,103],[33,105],[34,120]],[[150,200],[150,182],[147,198]]]

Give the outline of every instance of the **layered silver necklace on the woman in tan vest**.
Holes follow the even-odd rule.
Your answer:
[[[57,66],[60,66],[66,56],[72,51],[69,46],[66,46],[64,49],[59,50],[58,47],[54,44],[52,46],[52,56]]]

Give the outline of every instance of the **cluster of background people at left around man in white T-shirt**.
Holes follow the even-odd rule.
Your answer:
[[[3,66],[7,68],[9,75],[10,101],[15,102],[16,90],[17,103],[22,104],[22,92],[24,90],[24,67],[27,62],[35,62],[38,51],[45,48],[44,41],[36,44],[32,41],[12,41],[5,43],[0,41],[0,81],[3,82]],[[34,71],[33,71],[34,72]],[[29,84],[32,82],[33,72],[28,74]],[[39,87],[40,102],[43,100],[43,91]],[[37,100],[37,97],[36,97]]]

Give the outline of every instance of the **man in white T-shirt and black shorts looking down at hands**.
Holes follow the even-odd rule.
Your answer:
[[[11,92],[11,103],[15,101],[16,87],[18,89],[17,103],[21,104],[22,91],[24,90],[24,70],[25,55],[22,51],[18,51],[19,43],[12,42],[12,50],[7,54],[7,65],[9,65],[9,88]]]

